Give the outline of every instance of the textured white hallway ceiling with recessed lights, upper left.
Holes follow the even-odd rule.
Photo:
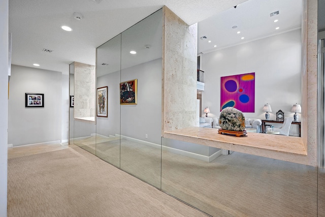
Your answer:
[[[246,0],[10,0],[12,64],[69,73],[69,64],[95,64],[95,48],[166,5],[187,24]],[[73,13],[83,15],[74,19]],[[69,25],[72,32],[60,26]],[[43,49],[53,50],[46,53]]]

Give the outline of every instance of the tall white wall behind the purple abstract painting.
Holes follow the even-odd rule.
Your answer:
[[[281,109],[301,104],[301,29],[202,55],[205,90],[202,108],[220,115],[220,77],[255,72],[255,112],[246,118],[265,119],[264,104],[272,107],[270,119]],[[300,114],[299,114],[300,115]],[[291,126],[295,128],[298,126]]]

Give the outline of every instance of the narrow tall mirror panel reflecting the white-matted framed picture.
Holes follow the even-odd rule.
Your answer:
[[[121,35],[97,48],[96,156],[120,167]]]

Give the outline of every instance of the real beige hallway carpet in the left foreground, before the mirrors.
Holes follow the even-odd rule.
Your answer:
[[[85,150],[8,160],[8,216],[206,216]]]

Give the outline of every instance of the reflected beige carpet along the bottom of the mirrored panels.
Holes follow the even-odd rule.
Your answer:
[[[314,167],[240,152],[210,163],[167,151],[160,157],[157,148],[124,140],[120,148],[112,141],[96,147],[99,157],[120,155],[123,170],[158,186],[161,158],[161,189],[213,216],[316,216],[317,208],[325,215],[325,176],[317,192]]]

